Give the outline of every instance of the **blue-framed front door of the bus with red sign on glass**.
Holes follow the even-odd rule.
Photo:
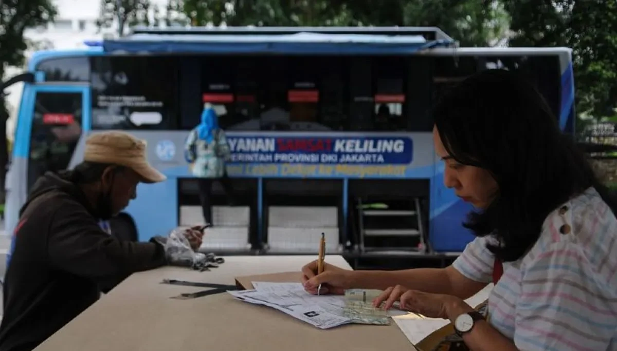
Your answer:
[[[25,84],[6,181],[9,233],[36,179],[68,168],[81,135],[90,129],[89,106],[88,85]]]

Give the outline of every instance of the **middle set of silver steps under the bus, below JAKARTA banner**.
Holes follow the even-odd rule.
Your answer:
[[[271,253],[317,254],[321,233],[326,238],[326,254],[342,251],[336,207],[270,206],[268,240],[263,246]]]

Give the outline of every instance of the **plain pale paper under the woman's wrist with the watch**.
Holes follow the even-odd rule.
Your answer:
[[[478,292],[478,294],[466,299],[465,302],[471,307],[476,307],[489,297],[492,288],[493,284],[489,284],[486,288],[482,289],[482,291]],[[422,341],[425,337],[429,336],[437,329],[443,328],[450,323],[449,320],[444,320],[441,318],[426,318],[413,313],[393,317],[392,319],[395,321],[396,325],[399,326],[405,336],[407,336],[407,339],[409,339],[409,341],[414,345],[418,344],[418,342]]]

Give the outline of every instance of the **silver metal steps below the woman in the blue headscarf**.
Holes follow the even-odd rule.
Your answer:
[[[212,222],[213,227],[205,230],[200,251],[215,253],[251,251],[248,206],[212,206]],[[180,227],[203,224],[201,206],[180,207]]]

